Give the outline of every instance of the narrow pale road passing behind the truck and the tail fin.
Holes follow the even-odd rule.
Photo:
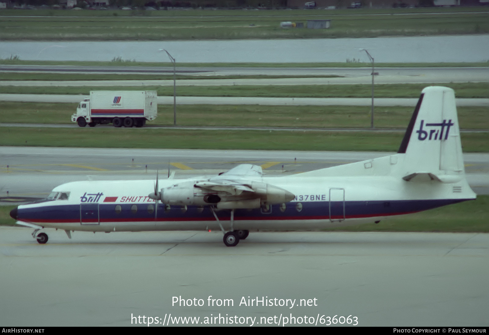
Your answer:
[[[0,101],[80,102],[89,96],[54,94],[0,94]],[[489,106],[487,98],[458,98],[457,106]],[[376,106],[416,106],[417,98],[375,98]],[[158,96],[158,104],[173,105],[173,96]],[[288,98],[288,97],[229,97],[177,96],[179,105],[346,105],[370,106],[371,98]]]

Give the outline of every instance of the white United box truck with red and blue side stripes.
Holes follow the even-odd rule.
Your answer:
[[[90,91],[78,104],[71,121],[80,127],[112,123],[114,127],[142,127],[157,116],[156,91]]]

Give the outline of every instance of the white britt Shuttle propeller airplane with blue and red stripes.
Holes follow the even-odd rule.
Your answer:
[[[422,90],[396,154],[289,176],[243,164],[211,178],[81,181],[10,212],[17,224],[74,231],[221,230],[226,246],[250,231],[320,230],[476,198],[467,183],[455,93]]]

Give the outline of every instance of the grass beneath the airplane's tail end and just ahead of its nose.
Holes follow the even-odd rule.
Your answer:
[[[0,225],[15,225],[9,212],[15,206],[0,206]],[[325,231],[354,232],[450,232],[489,233],[489,196],[416,214],[393,217],[378,224],[337,227]]]

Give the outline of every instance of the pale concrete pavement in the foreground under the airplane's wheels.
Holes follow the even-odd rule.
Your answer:
[[[334,315],[358,326],[488,326],[489,234],[251,232],[229,248],[220,232],[48,233],[40,245],[28,228],[0,227],[0,324],[134,326],[132,316],[171,314],[202,326],[211,316],[309,326]],[[209,296],[233,304],[208,306]]]

